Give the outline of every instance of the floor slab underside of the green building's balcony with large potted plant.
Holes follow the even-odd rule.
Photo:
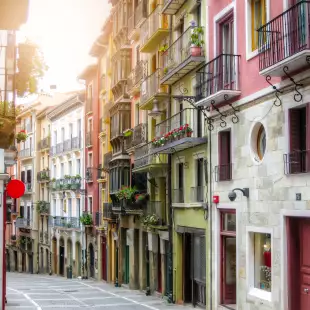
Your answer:
[[[181,64],[175,67],[171,72],[168,72],[160,81],[163,85],[173,85],[183,78],[186,74],[193,71],[205,61],[204,56],[194,57],[190,56]]]

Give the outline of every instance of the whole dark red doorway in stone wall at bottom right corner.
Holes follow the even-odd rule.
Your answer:
[[[288,217],[288,309],[310,309],[310,219]]]

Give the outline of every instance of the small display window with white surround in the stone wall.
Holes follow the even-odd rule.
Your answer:
[[[254,233],[254,286],[271,292],[271,235]]]

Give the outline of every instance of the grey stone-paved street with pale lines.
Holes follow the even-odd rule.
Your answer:
[[[7,273],[6,309],[189,310],[143,292],[93,280]]]

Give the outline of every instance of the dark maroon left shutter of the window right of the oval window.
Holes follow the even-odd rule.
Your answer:
[[[286,159],[289,173],[298,173],[301,171],[300,161],[300,109],[289,110],[289,136],[290,136],[290,154]]]

